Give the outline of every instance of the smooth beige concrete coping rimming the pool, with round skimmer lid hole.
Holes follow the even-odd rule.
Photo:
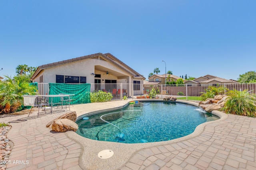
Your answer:
[[[131,100],[122,101],[122,105],[105,108],[105,109],[98,109],[98,111],[91,111],[91,112],[77,112],[77,118],[81,119],[84,116],[93,115],[96,113],[102,113],[105,111],[112,111],[116,109],[122,109],[126,107]],[[141,99],[137,101],[144,101],[144,102],[163,102],[162,99]],[[176,103],[183,103],[183,104],[190,104],[193,106],[198,107],[198,103],[189,102],[189,101],[182,101],[177,100]],[[228,115],[226,113],[220,111],[212,111],[212,114],[217,115],[220,119],[216,121],[223,121],[227,119]],[[136,154],[136,152],[147,149],[150,147],[158,147],[162,145],[169,145],[173,143],[178,143],[180,141],[185,141],[194,137],[197,137],[204,131],[204,127],[210,123],[216,122],[210,121],[205,122],[196,127],[193,133],[190,135],[173,139],[170,141],[162,141],[162,142],[155,142],[155,143],[136,143],[136,144],[126,144],[126,143],[115,143],[115,142],[105,142],[105,141],[96,141],[92,139],[84,138],[75,132],[69,131],[66,132],[66,136],[70,139],[79,143],[82,147],[82,152],[80,155],[79,166],[82,169],[90,169],[90,170],[109,170],[109,169],[119,169],[121,168],[128,160]],[[100,159],[98,158],[98,153],[102,150],[112,150],[114,155],[108,159]]]

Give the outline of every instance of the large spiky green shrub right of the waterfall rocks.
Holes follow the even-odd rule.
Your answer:
[[[256,117],[256,96],[248,90],[230,90],[222,111],[228,114]]]

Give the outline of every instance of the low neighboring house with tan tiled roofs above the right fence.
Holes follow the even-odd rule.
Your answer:
[[[184,82],[184,84],[222,84],[222,83],[238,83],[238,82],[235,80],[227,80],[225,78],[220,78],[220,77],[212,76],[209,74],[195,78],[194,80],[188,80]]]

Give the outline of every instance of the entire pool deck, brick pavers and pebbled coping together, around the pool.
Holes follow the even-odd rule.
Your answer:
[[[122,108],[128,102],[80,104],[71,106],[70,110],[81,117],[102,109]],[[11,164],[6,169],[256,169],[256,118],[216,111],[214,113],[220,114],[221,119],[199,125],[186,137],[157,143],[123,144],[86,139],[72,131],[53,132],[46,124],[64,114],[65,109],[38,118],[37,111],[30,116],[34,119],[26,119],[27,115],[1,118],[0,122],[11,122],[7,137],[14,143],[9,157]],[[112,150],[114,155],[108,159],[98,158],[98,152],[105,149]]]

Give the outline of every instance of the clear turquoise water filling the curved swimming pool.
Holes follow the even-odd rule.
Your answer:
[[[193,133],[201,123],[219,119],[196,106],[172,102],[130,104],[124,109],[88,118],[76,122],[78,135],[119,143],[168,141]]]

